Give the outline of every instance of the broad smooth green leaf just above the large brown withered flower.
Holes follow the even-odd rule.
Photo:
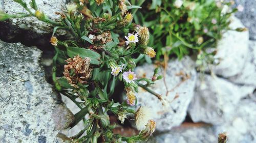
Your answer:
[[[85,48],[78,48],[78,47],[67,47],[67,54],[71,58],[75,55],[81,56],[81,58],[90,58],[91,59],[91,64],[94,65],[99,65],[100,64],[100,54],[92,51],[90,49],[85,49]]]

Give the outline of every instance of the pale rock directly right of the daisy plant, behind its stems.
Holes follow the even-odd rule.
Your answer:
[[[144,65],[137,67],[135,73],[139,77],[146,76],[151,78],[154,65]],[[161,69],[160,74],[163,75]],[[157,97],[139,88],[137,95],[137,105],[146,105],[152,108],[153,119],[157,123],[157,130],[169,130],[174,126],[179,126],[186,116],[189,102],[194,95],[194,88],[197,79],[195,64],[188,57],[182,61],[175,60],[168,63],[166,69],[166,85],[164,80],[157,80],[156,84],[150,87],[156,93],[166,98],[168,106],[163,106]],[[166,93],[168,92],[167,96]]]

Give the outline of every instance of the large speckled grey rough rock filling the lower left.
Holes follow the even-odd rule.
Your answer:
[[[52,115],[64,108],[45,80],[40,55],[35,47],[0,41],[0,142],[57,141],[54,122],[60,116]],[[65,128],[70,122],[57,125]]]

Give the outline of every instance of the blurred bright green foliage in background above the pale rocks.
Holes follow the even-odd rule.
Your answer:
[[[157,48],[158,60],[164,54],[175,54],[181,59],[186,54],[216,47],[222,34],[229,30],[229,17],[237,11],[230,6],[231,2],[214,0],[153,0],[146,1],[134,19],[150,27],[153,36],[149,46]]]

